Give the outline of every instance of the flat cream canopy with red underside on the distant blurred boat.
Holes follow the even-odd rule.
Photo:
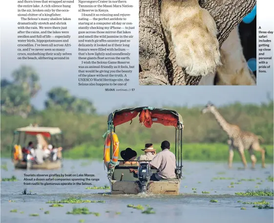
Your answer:
[[[40,126],[26,126],[18,128],[14,131],[14,134],[25,133],[30,135],[42,134],[45,137],[50,137],[55,134],[62,134],[62,131],[57,127],[40,127]]]

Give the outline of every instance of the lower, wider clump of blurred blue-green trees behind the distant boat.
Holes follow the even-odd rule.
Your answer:
[[[87,99],[72,96],[67,89],[53,88],[47,93],[46,109],[61,109],[66,112],[93,114],[96,112],[93,103]]]

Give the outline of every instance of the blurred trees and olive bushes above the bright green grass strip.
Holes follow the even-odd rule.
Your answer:
[[[105,139],[102,135],[107,130],[107,114],[97,114],[91,101],[74,97],[67,89],[53,88],[47,93],[44,110],[38,111],[30,103],[31,98],[41,89],[38,74],[31,67],[20,67],[13,73],[13,79],[1,80],[1,152],[10,150],[13,131],[30,123],[59,127],[64,134],[65,149],[80,145],[103,148]],[[185,125],[184,143],[227,142],[227,135],[214,116],[201,113],[203,106],[164,108],[173,109],[182,115]],[[264,144],[273,145],[273,99],[260,105],[236,102],[218,107],[218,110],[229,123],[261,135]],[[173,142],[175,134],[174,128],[156,123],[151,129],[141,127],[138,117],[131,124],[118,126],[116,132],[120,143],[132,146],[148,142],[156,144],[165,139]]]

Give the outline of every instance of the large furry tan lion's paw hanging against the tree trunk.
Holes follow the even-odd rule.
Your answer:
[[[215,73],[221,65],[216,23],[199,5],[169,18],[169,33],[176,61],[191,76]]]

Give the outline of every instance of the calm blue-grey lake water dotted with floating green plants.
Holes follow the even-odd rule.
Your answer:
[[[15,170],[9,159],[1,159],[8,170],[1,169],[1,178],[16,176],[18,181],[1,181],[1,223],[52,223],[65,222],[77,223],[85,220],[85,223],[273,223],[274,209],[258,209],[253,204],[242,204],[237,201],[255,202],[262,199],[269,201],[273,206],[273,197],[245,197],[235,196],[235,192],[245,192],[247,189],[257,190],[273,189],[273,182],[266,178],[273,176],[273,165],[268,164],[262,169],[258,164],[255,170],[242,170],[241,163],[233,163],[233,168],[228,169],[226,163],[214,162],[185,162],[184,178],[181,182],[179,196],[155,196],[155,195],[109,195],[109,190],[85,189],[84,185],[33,185],[24,186],[24,173],[27,174],[94,174],[100,180],[95,186],[108,184],[104,171],[103,160],[64,160],[63,169],[60,170]],[[249,166],[251,164],[249,163]],[[213,178],[233,179],[213,179]],[[254,181],[240,181],[241,179],[253,179]],[[44,182],[44,181],[43,181]],[[230,187],[234,186],[234,187]],[[21,191],[26,187],[36,195],[22,195]],[[196,188],[197,193],[193,193]],[[208,191],[210,194],[202,194]],[[104,194],[106,193],[106,194]],[[77,197],[83,200],[103,200],[104,203],[65,203],[63,207],[49,207],[46,201],[62,200],[68,197]],[[211,203],[210,200],[217,200]],[[14,201],[14,202],[9,202]],[[155,214],[143,214],[141,210],[126,207],[127,204],[141,204],[153,207]],[[69,215],[73,207],[87,207],[95,215]],[[245,207],[246,210],[241,210]],[[10,212],[17,209],[17,213]],[[41,210],[42,209],[42,210]],[[44,214],[49,211],[49,214]],[[106,212],[108,211],[108,212]],[[23,212],[23,213],[20,213]],[[120,213],[117,213],[120,212]],[[37,217],[30,214],[39,214]]]

